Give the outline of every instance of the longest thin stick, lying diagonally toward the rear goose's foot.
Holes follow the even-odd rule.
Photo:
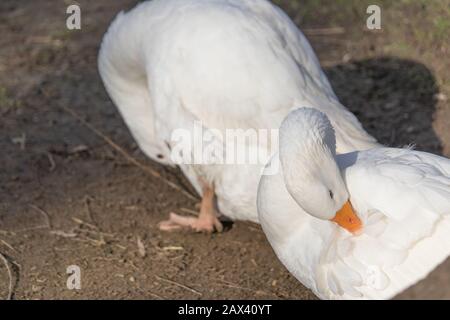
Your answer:
[[[45,91],[42,90],[43,94],[50,99],[50,95]],[[180,188],[178,185],[176,185],[175,183],[165,179],[163,176],[161,176],[161,174],[159,172],[157,172],[156,170],[145,166],[144,164],[140,163],[138,160],[136,160],[135,158],[133,158],[127,151],[125,151],[125,149],[123,149],[121,146],[119,146],[117,143],[115,143],[111,138],[109,138],[108,136],[106,136],[104,133],[102,133],[100,130],[98,130],[97,128],[95,128],[92,124],[90,124],[89,122],[87,122],[85,119],[83,119],[83,117],[81,117],[77,112],[75,112],[74,110],[72,110],[71,108],[68,108],[66,106],[63,106],[60,103],[57,103],[57,106],[64,110],[65,112],[69,113],[72,117],[74,117],[75,119],[77,119],[78,121],[80,121],[86,128],[88,128],[89,130],[91,130],[96,136],[98,136],[99,138],[101,138],[103,141],[105,141],[107,144],[109,144],[114,150],[116,150],[117,152],[119,152],[125,159],[127,159],[130,163],[134,164],[136,167],[140,168],[141,170],[149,173],[150,175],[152,175],[155,178],[158,178],[162,181],[164,181],[169,187],[171,187],[172,189],[181,192],[182,194],[184,194],[186,197],[188,197],[191,200],[195,200],[197,201],[198,198],[193,196],[192,194],[190,194],[189,192],[187,192],[186,190]]]

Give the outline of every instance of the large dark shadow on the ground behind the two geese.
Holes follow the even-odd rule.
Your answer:
[[[422,63],[380,57],[325,70],[340,101],[381,143],[442,152],[433,129],[438,87]]]

